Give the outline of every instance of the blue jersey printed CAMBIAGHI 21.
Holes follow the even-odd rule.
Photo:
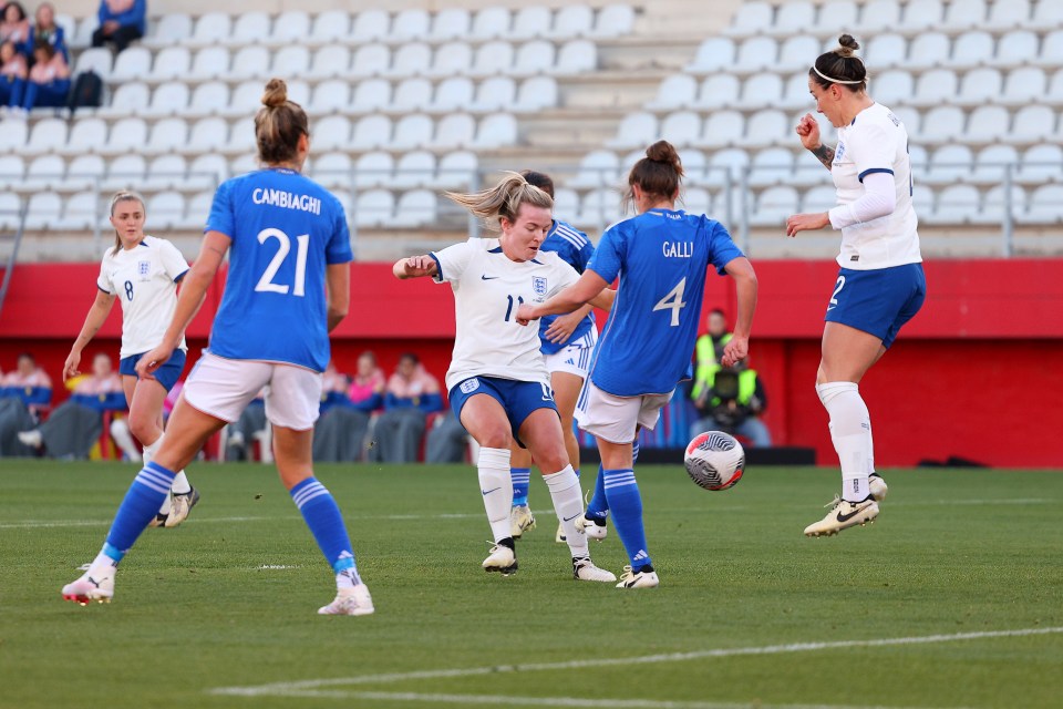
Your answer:
[[[323,372],[326,266],[353,258],[339,199],[295,171],[262,169],[218,187],[205,230],[233,239],[210,351]]]

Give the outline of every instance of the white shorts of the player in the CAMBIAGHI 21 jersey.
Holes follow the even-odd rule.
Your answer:
[[[295,364],[226,359],[204,352],[185,382],[185,401],[233,423],[266,388],[266,418],[274,425],[309,431],[321,405],[320,372]]]

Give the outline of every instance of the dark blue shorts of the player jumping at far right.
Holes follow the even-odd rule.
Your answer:
[[[922,264],[874,270],[843,268],[838,270],[824,320],[869,332],[889,349],[900,328],[919,312],[926,297]]]

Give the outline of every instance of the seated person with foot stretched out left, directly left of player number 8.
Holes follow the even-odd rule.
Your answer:
[[[103,412],[125,411],[122,378],[103,352],[92,360],[91,374],[72,381],[76,383],[70,399],[52,411],[48,421],[19,433],[23,444],[51,458],[87,459],[103,433]]]

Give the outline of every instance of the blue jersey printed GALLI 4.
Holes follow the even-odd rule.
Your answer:
[[[719,222],[651,209],[610,227],[587,267],[620,277],[590,380],[616,397],[663,394],[691,377],[705,269],[742,256]]]

